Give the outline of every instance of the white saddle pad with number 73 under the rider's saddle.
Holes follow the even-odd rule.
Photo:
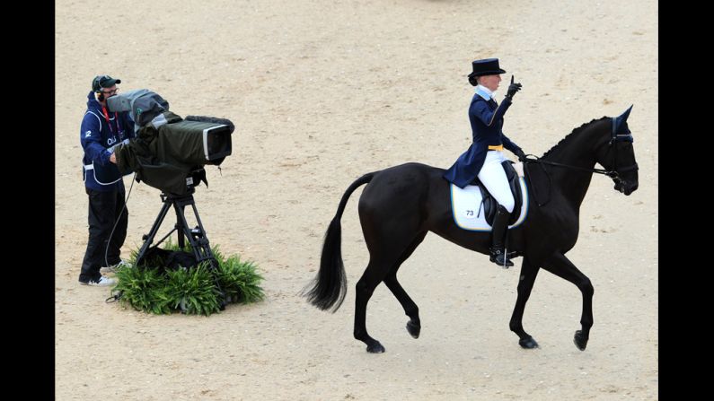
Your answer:
[[[521,210],[514,210],[518,213],[518,220],[509,225],[509,228],[519,226],[528,215],[528,188],[525,187],[523,177],[518,178],[521,183],[523,193],[523,203]],[[486,211],[481,204],[481,192],[478,186],[467,185],[463,189],[451,185],[451,210],[454,212],[454,222],[463,230],[469,231],[491,231],[491,226],[486,222]]]

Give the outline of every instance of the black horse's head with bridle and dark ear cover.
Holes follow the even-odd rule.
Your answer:
[[[615,183],[614,189],[625,195],[630,195],[638,187],[637,161],[632,147],[632,133],[627,126],[630,109],[619,117],[612,118],[612,128],[609,140],[598,149],[596,160],[606,170]]]

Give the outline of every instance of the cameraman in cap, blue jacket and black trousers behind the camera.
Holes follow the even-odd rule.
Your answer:
[[[89,240],[79,275],[79,283],[85,285],[109,286],[116,283],[116,280],[102,276],[100,268],[121,263],[119,253],[127,237],[128,209],[124,205],[124,181],[116,166],[113,147],[133,138],[135,133],[134,122],[127,112],[110,112],[107,109],[107,99],[119,91],[117,83],[121,80],[109,75],[94,77],[80,129],[80,143],[84,149],[84,187],[89,196]]]

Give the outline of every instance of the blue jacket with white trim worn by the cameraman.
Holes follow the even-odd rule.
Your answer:
[[[87,95],[87,111],[82,118],[79,142],[84,149],[82,172],[84,186],[97,191],[124,191],[124,182],[116,164],[109,161],[111,147],[133,138],[134,122],[127,112],[111,113],[102,109],[94,93]],[[109,118],[109,121],[107,120]],[[99,178],[100,182],[97,182]]]

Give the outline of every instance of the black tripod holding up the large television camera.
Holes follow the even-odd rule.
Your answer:
[[[201,262],[206,260],[208,261],[208,266],[210,266],[210,270],[213,273],[214,281],[216,282],[216,288],[218,292],[220,292],[221,296],[223,296],[224,292],[221,289],[220,283],[218,283],[218,278],[216,275],[218,269],[218,262],[216,261],[216,257],[214,257],[213,255],[213,251],[211,251],[211,247],[208,243],[208,238],[206,236],[206,231],[203,229],[203,224],[201,223],[201,219],[198,216],[198,209],[196,208],[196,203],[193,200],[193,193],[195,191],[196,190],[193,187],[189,187],[189,192],[186,195],[165,194],[163,192],[161,193],[161,200],[163,202],[163,206],[161,208],[161,211],[159,212],[159,215],[154,221],[154,225],[151,227],[151,231],[149,231],[148,234],[145,234],[142,237],[142,240],[144,240],[144,244],[139,249],[136,264],[137,266],[139,266],[139,264],[141,263],[146,251],[151,247],[152,242],[154,242],[154,237],[159,231],[163,219],[166,217],[166,214],[168,214],[169,209],[173,206],[173,210],[176,213],[176,224],[173,226],[172,231],[169,231],[169,233],[167,233],[161,240],[159,240],[155,246],[157,247],[163,242],[163,240],[166,240],[172,234],[173,231],[178,231],[179,248],[182,249],[186,244],[185,240],[189,240],[189,244],[191,246],[191,249],[193,250],[193,256],[196,257],[197,264],[200,264]],[[190,205],[193,209],[193,214],[196,216],[196,222],[198,222],[198,225],[193,229],[189,228],[189,223],[186,221],[186,216],[184,215],[184,208],[188,205]],[[220,301],[220,309],[225,309],[225,300]]]

